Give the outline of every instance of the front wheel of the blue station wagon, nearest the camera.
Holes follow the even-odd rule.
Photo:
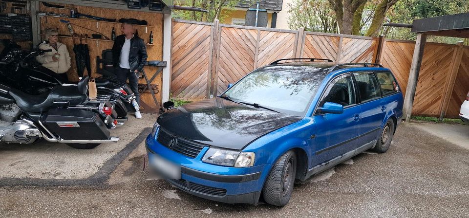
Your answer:
[[[290,150],[278,158],[267,176],[262,189],[265,202],[279,207],[285,206],[292,197],[296,172],[297,156]]]

